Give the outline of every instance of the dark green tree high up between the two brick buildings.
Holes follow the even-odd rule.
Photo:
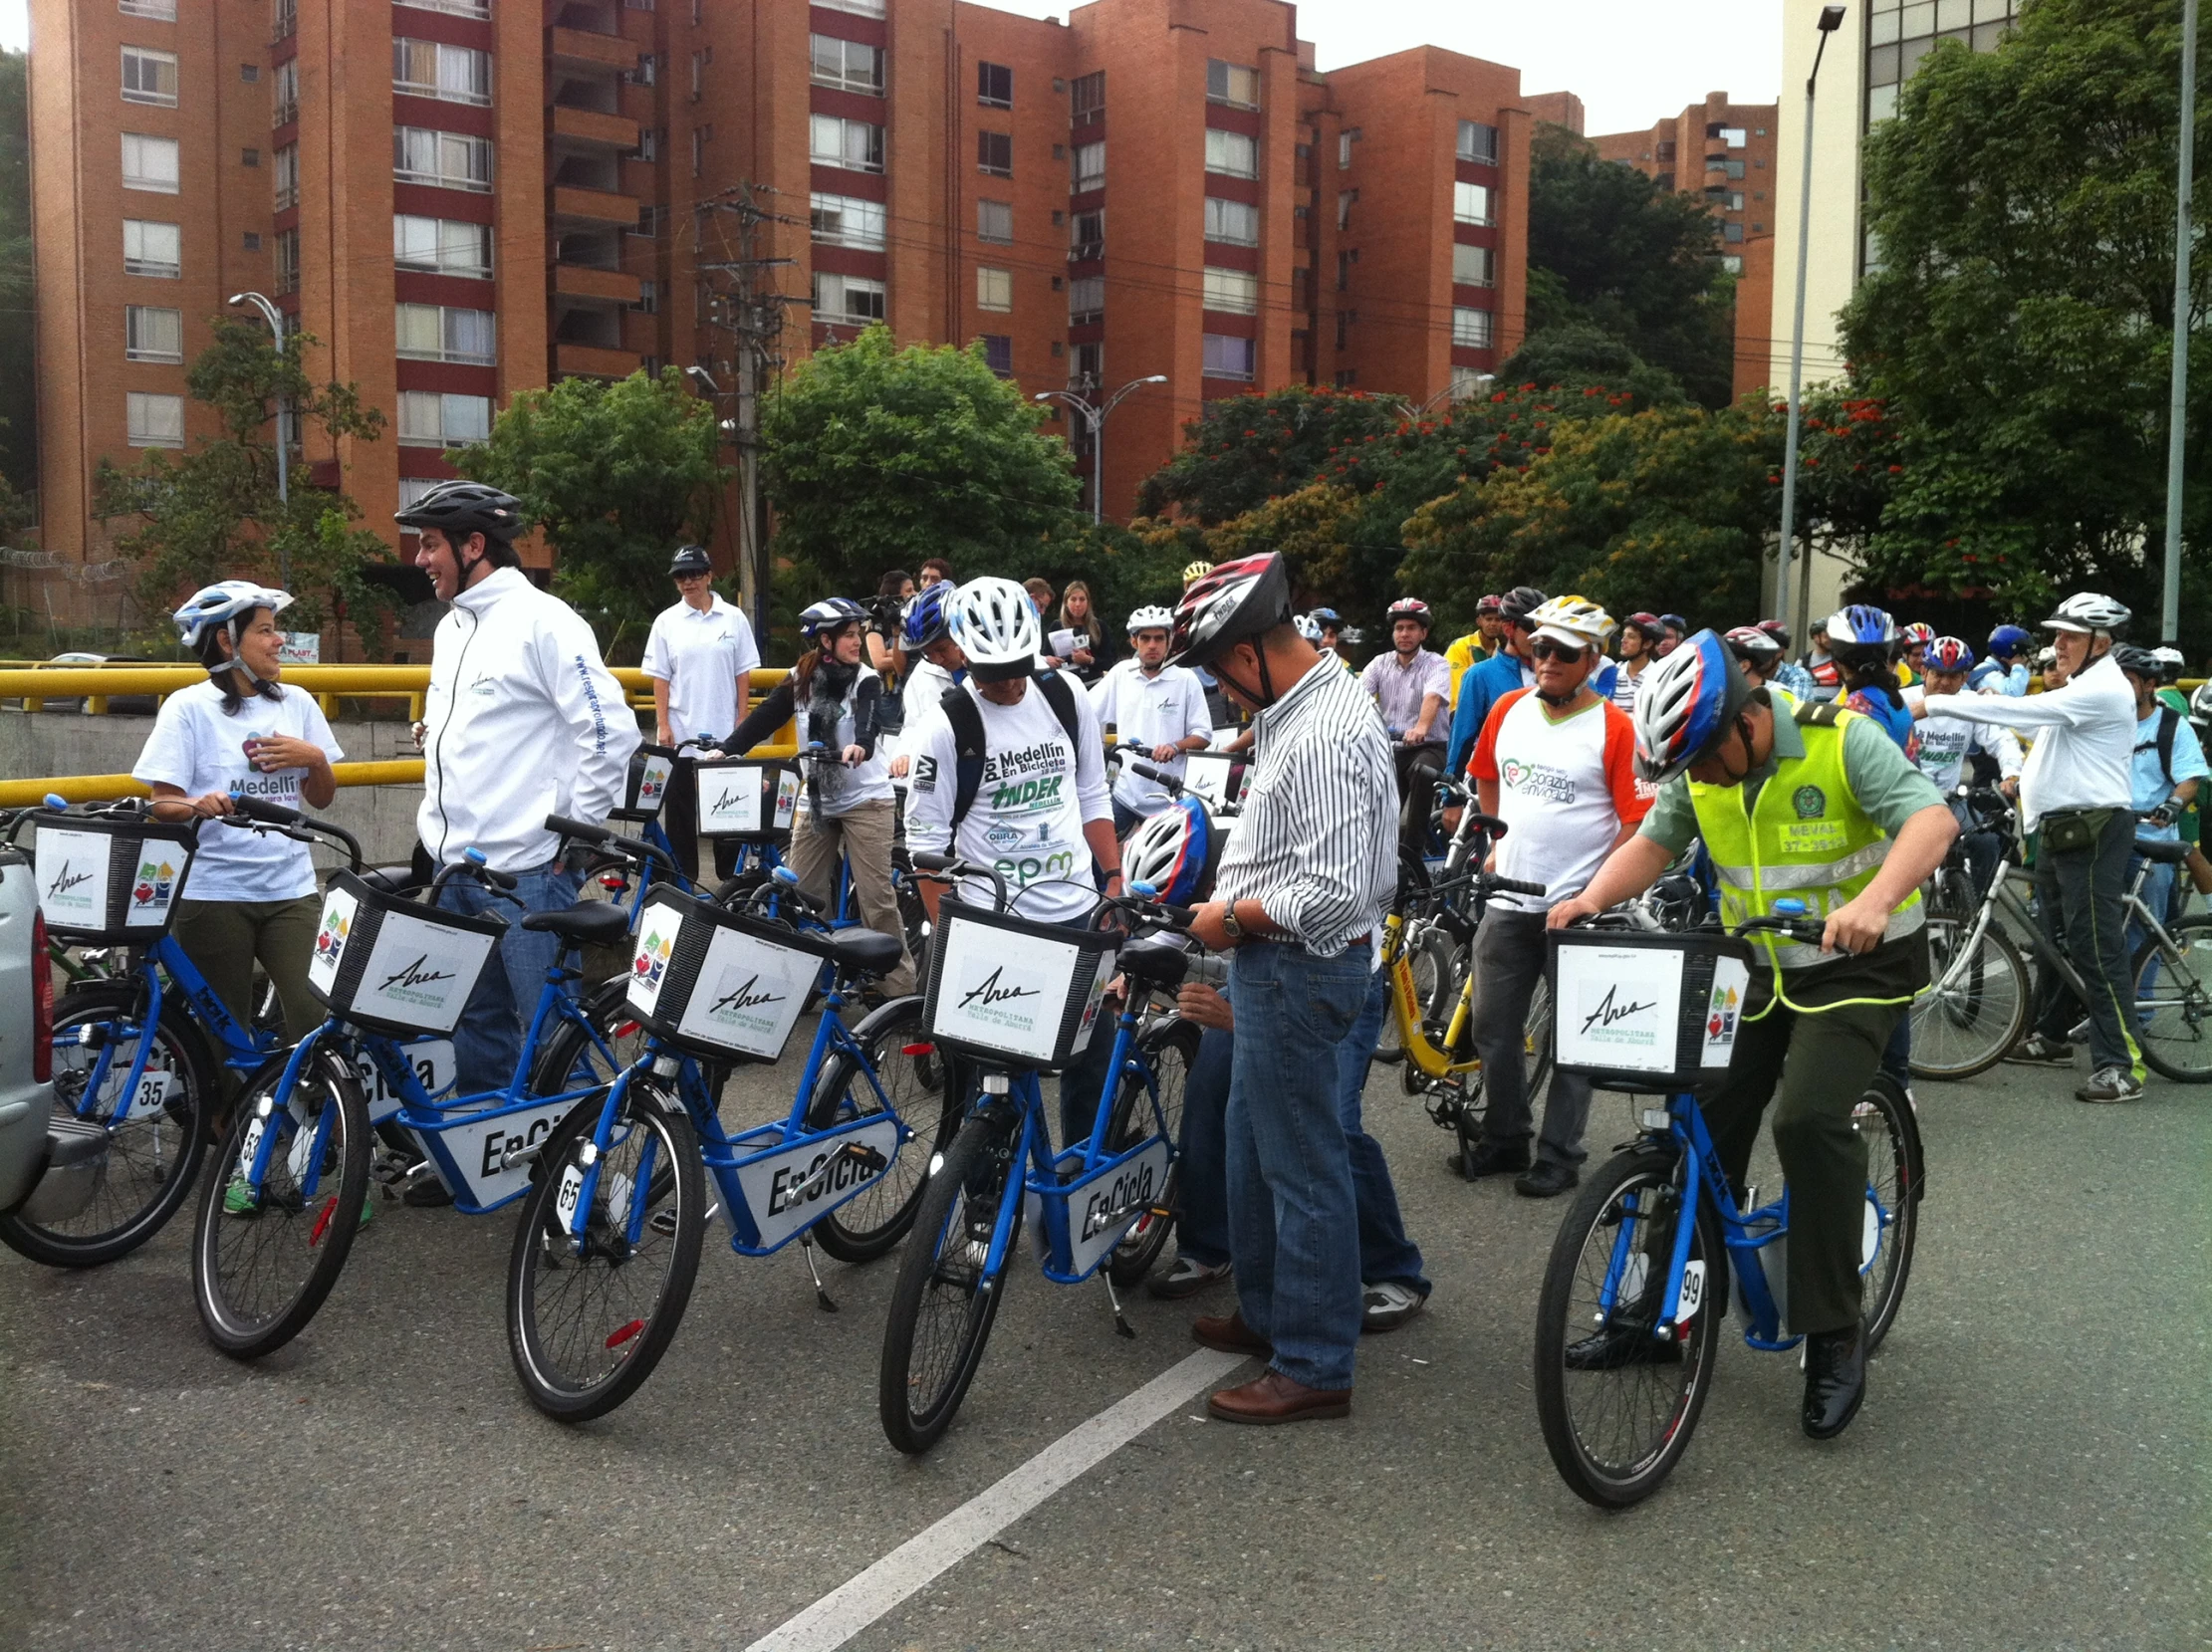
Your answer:
[[[1597,159],[1564,126],[1528,153],[1528,327],[1588,325],[1624,341],[1705,407],[1734,385],[1734,279],[1694,195]]]

